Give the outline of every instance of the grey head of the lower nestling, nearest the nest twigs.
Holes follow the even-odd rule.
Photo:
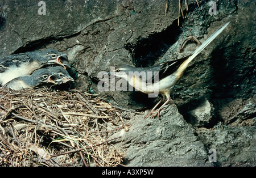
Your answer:
[[[68,71],[61,66],[48,67],[48,70],[53,73],[51,79],[55,84],[66,83],[69,81],[74,82],[75,80],[68,74]]]

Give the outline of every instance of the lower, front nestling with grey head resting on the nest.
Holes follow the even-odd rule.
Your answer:
[[[31,75],[17,77],[10,82],[6,83],[4,87],[13,90],[22,90],[23,88],[33,88],[43,86],[50,83],[53,85],[74,81],[61,66],[41,68],[35,70]]]

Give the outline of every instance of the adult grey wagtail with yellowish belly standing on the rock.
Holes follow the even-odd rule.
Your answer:
[[[160,94],[166,96],[167,100],[164,104],[155,111],[156,107],[162,102],[162,99],[155,105],[148,116],[159,116],[160,111],[171,100],[171,91],[177,81],[181,78],[184,70],[188,67],[197,54],[199,54],[210,42],[212,42],[228,25],[226,23],[220,29],[217,29],[203,44],[201,44],[191,56],[181,58],[175,61],[168,61],[159,63],[150,67],[133,67],[129,65],[115,66],[110,74],[116,77],[124,78],[137,91],[145,94],[154,94],[158,91]],[[143,78],[143,74],[146,79]],[[157,92],[157,93],[158,93]]]

